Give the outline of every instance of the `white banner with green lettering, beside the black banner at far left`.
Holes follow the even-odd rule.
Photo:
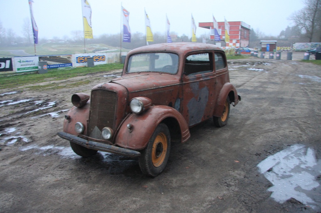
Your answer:
[[[28,72],[38,70],[38,56],[14,57],[16,72]]]

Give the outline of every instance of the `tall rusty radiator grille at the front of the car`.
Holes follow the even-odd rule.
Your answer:
[[[107,90],[91,91],[88,133],[90,137],[103,139],[103,127],[114,128],[117,94]]]

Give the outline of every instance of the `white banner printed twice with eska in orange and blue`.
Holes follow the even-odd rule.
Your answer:
[[[74,54],[73,61],[74,67],[87,66],[87,58],[92,57],[94,60],[94,65],[106,64],[106,53],[81,53]]]

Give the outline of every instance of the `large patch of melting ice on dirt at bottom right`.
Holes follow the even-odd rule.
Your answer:
[[[294,198],[321,210],[321,186],[316,181],[321,173],[321,160],[316,160],[313,149],[295,144],[267,157],[257,167],[273,184],[268,191],[272,192],[275,201],[283,203]]]

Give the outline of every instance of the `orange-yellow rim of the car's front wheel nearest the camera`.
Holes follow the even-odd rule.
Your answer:
[[[154,167],[159,167],[164,162],[167,152],[167,137],[164,133],[156,136],[152,148],[152,162]]]

